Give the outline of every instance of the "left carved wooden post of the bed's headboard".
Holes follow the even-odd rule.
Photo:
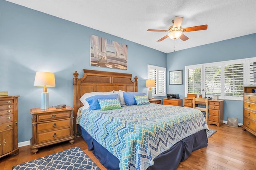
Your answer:
[[[74,107],[74,124],[73,124],[73,126],[74,126],[74,136],[77,136],[78,135],[78,131],[77,131],[77,128],[76,128],[76,115],[77,115],[77,111],[78,111],[78,105],[79,105],[79,94],[78,94],[78,75],[79,75],[79,73],[77,73],[77,71],[75,71],[74,73],[73,73],[73,75],[74,75],[74,78],[73,78],[73,88],[74,88],[74,94],[73,94],[73,107]]]

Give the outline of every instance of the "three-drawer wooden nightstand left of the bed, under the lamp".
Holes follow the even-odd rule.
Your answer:
[[[38,148],[69,140],[74,143],[73,108],[66,106],[62,109],[30,109],[32,114],[31,152],[36,154]]]

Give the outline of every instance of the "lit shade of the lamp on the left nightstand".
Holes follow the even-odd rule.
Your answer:
[[[36,72],[34,86],[39,87],[55,87],[54,73],[49,72]]]

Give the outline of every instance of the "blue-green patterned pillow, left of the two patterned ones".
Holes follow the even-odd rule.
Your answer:
[[[101,111],[108,111],[112,109],[122,109],[118,99],[98,99]]]

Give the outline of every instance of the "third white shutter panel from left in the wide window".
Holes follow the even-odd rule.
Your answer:
[[[225,96],[242,96],[244,92],[244,64],[225,65]]]

